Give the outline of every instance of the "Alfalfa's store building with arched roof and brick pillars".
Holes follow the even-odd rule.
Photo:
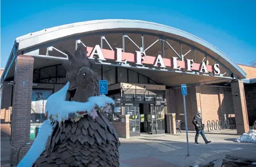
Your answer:
[[[210,130],[226,127],[242,134],[254,123],[255,85],[242,81],[249,68],[244,71],[208,42],[152,22],[87,21],[15,40],[1,76],[1,134],[10,136],[14,150],[33,140],[34,127],[46,119],[48,97],[67,83],[64,50],[79,46],[98,79],[108,81],[107,96],[115,100],[108,116],[120,137],[176,133],[177,120],[184,129],[181,84],[188,87],[189,130],[197,111]]]

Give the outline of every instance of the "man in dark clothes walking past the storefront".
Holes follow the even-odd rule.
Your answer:
[[[201,112],[197,112],[196,116],[193,119],[193,125],[195,125],[195,129],[196,129],[195,143],[199,144],[197,142],[197,139],[198,139],[200,134],[203,137],[205,144],[210,143],[211,141],[207,141],[207,138],[205,137],[205,134],[204,134],[204,127],[203,127],[203,124],[202,124]]]

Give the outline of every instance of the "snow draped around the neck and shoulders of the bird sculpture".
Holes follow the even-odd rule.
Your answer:
[[[45,106],[48,118],[61,122],[70,119],[71,115],[75,118],[79,111],[87,111],[88,114],[95,118],[97,116],[96,110],[106,110],[104,107],[108,107],[108,104],[114,104],[114,100],[105,95],[92,96],[86,103],[66,101],[68,87],[69,83],[60,91],[49,96]]]

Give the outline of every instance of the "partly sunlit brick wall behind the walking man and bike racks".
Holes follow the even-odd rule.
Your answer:
[[[185,117],[183,107],[183,96],[180,88],[174,90],[174,99],[176,104],[176,120],[181,120],[181,128],[185,129]],[[169,104],[170,106],[170,104]],[[193,116],[197,111],[202,112],[203,123],[207,121],[220,121],[224,114],[234,114],[231,88],[226,87],[188,87],[186,96],[188,129],[194,130],[192,124]],[[228,118],[228,117],[227,117]]]

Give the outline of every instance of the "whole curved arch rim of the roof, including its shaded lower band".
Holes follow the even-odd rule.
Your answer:
[[[25,36],[18,37],[15,40],[13,51],[9,57],[7,66],[12,64],[11,61],[14,60],[12,57],[23,53],[33,52],[35,48],[46,46],[49,43],[68,40],[70,38],[78,39],[86,34],[110,32],[157,34],[157,36],[161,36],[163,39],[169,38],[173,41],[180,42],[181,44],[191,46],[191,48],[195,48],[204,53],[206,56],[211,57],[212,60],[218,61],[218,63],[238,79],[246,77],[246,73],[238,67],[234,61],[223,52],[219,51],[219,49],[215,48],[215,46],[201,40],[199,37],[170,26],[139,20],[96,20],[77,22],[75,24],[56,26],[39,32],[29,33]],[[5,73],[9,68],[10,67],[6,67]],[[6,74],[3,76],[6,76]]]

